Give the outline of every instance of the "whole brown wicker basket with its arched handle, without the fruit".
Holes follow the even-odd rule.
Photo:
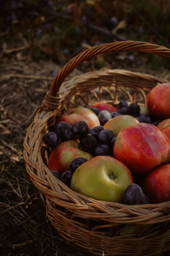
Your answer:
[[[94,255],[161,255],[170,249],[170,202],[127,206],[97,201],[69,189],[47,167],[50,149],[42,138],[65,106],[69,110],[102,100],[116,105],[122,97],[129,103],[146,105],[150,89],[167,82],[125,70],[89,72],[64,82],[84,60],[118,50],[150,52],[170,59],[170,50],[165,47],[133,41],[102,44],[80,53],[53,80],[27,129],[23,156],[32,182],[46,196],[48,218],[68,243]]]

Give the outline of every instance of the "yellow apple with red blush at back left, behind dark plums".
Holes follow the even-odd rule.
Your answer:
[[[72,109],[69,115],[63,115],[62,117],[56,120],[56,123],[59,123],[61,121],[70,124],[72,127],[78,121],[85,121],[88,125],[89,130],[94,126],[100,125],[100,121],[97,115],[90,109],[82,107]]]

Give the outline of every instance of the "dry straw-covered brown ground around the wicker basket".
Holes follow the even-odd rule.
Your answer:
[[[44,196],[31,183],[22,157],[26,129],[50,89],[53,71],[61,67],[5,57],[0,65],[0,255],[85,256],[66,244],[47,220]],[[142,66],[140,71],[170,77],[163,68]],[[72,76],[83,72],[77,69]]]

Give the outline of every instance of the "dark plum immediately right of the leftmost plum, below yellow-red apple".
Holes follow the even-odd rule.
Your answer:
[[[73,128],[66,122],[59,122],[55,126],[55,132],[60,136],[62,141],[73,139]]]

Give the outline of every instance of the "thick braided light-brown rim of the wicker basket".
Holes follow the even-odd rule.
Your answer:
[[[119,69],[111,71],[121,73]],[[91,74],[92,72],[88,73]],[[137,77],[143,74],[127,70],[123,70],[123,73],[126,73],[128,75],[131,74]],[[149,77],[149,79],[157,80],[156,77],[152,75],[144,75],[146,75],[146,77]],[[158,79],[160,79],[160,81],[162,80],[162,78]],[[58,100],[58,97],[52,97],[57,98]],[[43,145],[42,134],[45,134],[45,131],[47,130],[47,121],[55,116],[55,110],[48,112],[47,108],[44,105],[38,108],[38,111],[35,114],[34,121],[27,128],[27,134],[24,139],[23,150],[23,157],[26,162],[26,170],[30,175],[33,184],[39,190],[41,190],[45,194],[45,196],[50,199],[50,201],[53,201],[59,206],[64,206],[66,209],[73,211],[75,214],[83,216],[84,218],[88,218],[89,216],[94,217],[96,212],[90,215],[86,213],[92,213],[93,211],[97,210],[97,218],[109,219],[109,222],[113,223],[155,224],[170,220],[170,201],[159,204],[129,206],[120,203],[95,200],[88,196],[84,196],[82,194],[72,191],[62,181],[56,179],[51,174],[48,166],[46,166],[45,163],[42,161],[42,156],[40,152],[40,148]],[[29,141],[29,143],[27,143],[27,141]],[[33,172],[33,169],[36,170],[36,174]],[[74,209],[75,207],[77,207],[77,209]],[[165,212],[168,213],[169,217],[167,215],[164,215]],[[125,218],[126,220],[116,220],[116,216],[119,216],[118,219]],[[114,220],[112,219],[113,217],[115,218]],[[129,220],[127,220],[128,218]]]

